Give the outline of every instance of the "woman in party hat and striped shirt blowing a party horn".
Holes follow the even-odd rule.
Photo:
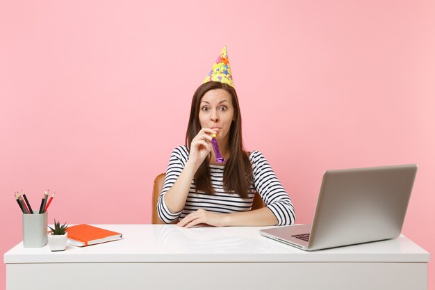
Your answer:
[[[224,165],[216,161],[213,135]],[[266,207],[249,211],[256,191]],[[179,219],[181,227],[295,223],[293,204],[268,161],[261,152],[243,148],[225,47],[193,95],[186,145],[172,152],[157,210],[163,222]]]

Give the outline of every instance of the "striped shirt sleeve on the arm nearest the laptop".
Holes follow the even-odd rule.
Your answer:
[[[256,191],[277,217],[277,225],[292,225],[296,220],[295,208],[277,175],[261,152],[254,151],[250,157]]]

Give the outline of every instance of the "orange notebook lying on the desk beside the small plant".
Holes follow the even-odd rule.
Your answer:
[[[122,234],[119,232],[112,232],[108,229],[101,229],[100,227],[85,224],[72,225],[71,227],[68,227],[67,232],[67,243],[79,247],[122,239]]]

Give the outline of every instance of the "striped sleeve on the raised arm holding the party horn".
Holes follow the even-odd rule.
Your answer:
[[[172,223],[179,218],[181,211],[172,213],[165,204],[165,193],[172,188],[174,183],[183,171],[183,168],[188,159],[188,151],[186,146],[179,146],[172,151],[169,165],[167,166],[165,182],[163,183],[162,192],[157,201],[157,214],[164,223]]]

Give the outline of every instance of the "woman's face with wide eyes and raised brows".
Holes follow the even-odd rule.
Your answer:
[[[234,119],[231,95],[222,88],[209,90],[199,104],[199,123],[202,128],[217,131],[217,139],[227,138]]]

